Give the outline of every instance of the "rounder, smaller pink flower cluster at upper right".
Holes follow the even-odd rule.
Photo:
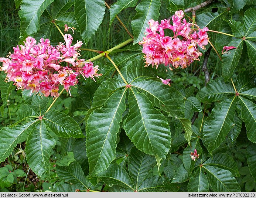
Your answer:
[[[153,19],[149,20],[149,28],[146,28],[146,37],[139,44],[143,45],[145,66],[156,66],[164,64],[175,69],[178,67],[186,68],[194,60],[199,60],[202,55],[198,51],[198,46],[205,49],[208,44],[207,27],[197,31],[191,30],[192,23],[187,23],[182,10],[176,11],[173,16],[173,25],[170,19],[161,20],[161,24]],[[183,18],[183,19],[182,19]],[[170,29],[174,36],[165,36],[164,30]]]

